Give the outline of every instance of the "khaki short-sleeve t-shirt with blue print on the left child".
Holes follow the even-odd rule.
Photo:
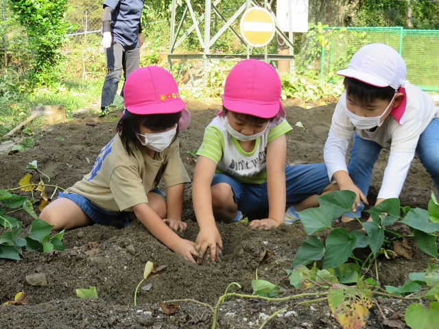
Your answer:
[[[108,143],[97,157],[91,172],[76,182],[65,193],[77,193],[109,211],[132,211],[132,206],[147,203],[147,193],[158,186],[161,178],[165,186],[190,182],[180,159],[178,138],[154,159],[143,151],[132,148],[129,156],[119,134]]]

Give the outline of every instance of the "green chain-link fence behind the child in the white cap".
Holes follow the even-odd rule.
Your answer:
[[[344,69],[362,46],[385,43],[398,51],[407,64],[407,80],[423,90],[439,91],[439,30],[414,30],[403,27],[335,27],[324,29],[320,41],[320,76],[331,77]],[[318,57],[318,56],[316,56]],[[316,68],[316,67],[315,67]]]

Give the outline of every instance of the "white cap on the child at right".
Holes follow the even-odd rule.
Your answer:
[[[352,57],[348,68],[337,75],[352,77],[376,87],[404,86],[407,68],[401,55],[388,45],[372,43],[361,47]]]

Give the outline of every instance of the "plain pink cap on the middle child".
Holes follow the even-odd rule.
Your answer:
[[[282,84],[273,66],[261,60],[242,60],[226,78],[222,103],[232,112],[283,121]]]

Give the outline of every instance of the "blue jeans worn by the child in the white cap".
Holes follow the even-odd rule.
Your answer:
[[[372,180],[372,169],[378,160],[382,147],[373,141],[366,141],[354,134],[354,144],[351,149],[351,158],[348,163],[348,173],[354,184],[368,195],[370,181]],[[416,154],[423,164],[427,173],[433,179],[436,188],[439,190],[439,118],[431,120],[424,132],[420,134]],[[361,217],[361,210],[364,204],[357,207],[356,217]],[[345,214],[353,217],[351,213]]]

